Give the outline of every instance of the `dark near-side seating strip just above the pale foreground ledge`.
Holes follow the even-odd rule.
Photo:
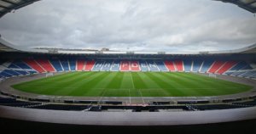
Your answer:
[[[86,105],[82,104],[67,104],[67,103],[40,103],[33,102],[38,100],[31,100],[29,102],[23,100],[17,100],[16,98],[2,98],[0,97],[0,105],[4,106],[12,106],[12,107],[23,107],[29,109],[54,109],[54,110],[73,110],[73,111],[82,111],[82,110],[90,110],[93,106],[90,102]],[[43,100],[44,101],[44,100]],[[71,103],[74,103],[73,101]],[[81,102],[86,103],[86,102]],[[102,105],[102,110],[108,109],[134,109],[134,112],[140,112],[142,110],[152,111],[152,109],[182,109],[182,110],[212,110],[212,109],[237,109],[237,108],[246,108],[253,107],[256,105],[256,99],[249,99],[246,101],[242,101],[241,99],[232,100],[231,102],[226,103],[217,103],[217,104],[207,104],[209,101],[199,101],[199,102],[178,102],[178,105],[169,105],[170,102],[149,102],[148,106],[125,106],[118,105],[121,102],[110,102],[106,103],[112,105]],[[154,110],[154,111],[155,111]]]

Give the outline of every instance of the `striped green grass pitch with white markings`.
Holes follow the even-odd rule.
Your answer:
[[[12,87],[37,94],[84,97],[218,96],[253,88],[203,75],[177,72],[72,72]]]

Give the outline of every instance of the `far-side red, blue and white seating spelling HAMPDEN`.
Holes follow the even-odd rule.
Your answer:
[[[252,65],[253,66],[253,65]],[[185,71],[256,77],[255,69],[245,61],[212,59],[22,59],[0,64],[0,76],[61,71]]]

